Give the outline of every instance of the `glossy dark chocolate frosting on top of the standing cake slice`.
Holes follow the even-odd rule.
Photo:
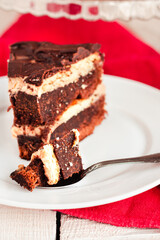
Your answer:
[[[41,85],[43,79],[72,63],[99,52],[100,44],[56,45],[50,42],[18,42],[10,46],[9,77],[27,77],[25,82]]]

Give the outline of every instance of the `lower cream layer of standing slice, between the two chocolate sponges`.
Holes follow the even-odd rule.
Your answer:
[[[38,127],[31,127],[28,125],[24,126],[13,126],[12,127],[12,136],[17,137],[18,135],[26,135],[26,136],[40,136],[41,131],[44,130],[46,127],[49,128],[49,134],[47,140],[42,139],[44,143],[49,143],[50,137],[52,132],[60,126],[62,123],[66,123],[72,117],[78,115],[80,112],[84,111],[86,108],[90,107],[93,103],[95,103],[101,96],[105,95],[105,85],[103,83],[99,84],[93,94],[83,100],[76,100],[75,104],[71,105],[55,122],[54,125],[50,126],[38,126]]]

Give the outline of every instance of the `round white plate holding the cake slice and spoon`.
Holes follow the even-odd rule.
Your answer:
[[[84,168],[102,160],[134,157],[160,150],[160,92],[144,84],[104,76],[108,117],[80,143]],[[8,105],[7,79],[0,79],[0,105]],[[1,107],[0,106],[0,107]],[[19,164],[12,139],[12,111],[0,113],[0,203],[37,209],[82,208],[115,202],[144,192],[160,183],[159,164],[118,164],[89,174],[63,188],[29,192],[9,178]]]

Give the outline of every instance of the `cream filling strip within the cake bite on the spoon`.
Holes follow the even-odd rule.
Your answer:
[[[37,157],[43,163],[44,173],[48,178],[47,183],[49,185],[56,184],[59,181],[60,166],[54,154],[53,146],[51,144],[44,145],[37,152],[32,154],[31,161]]]

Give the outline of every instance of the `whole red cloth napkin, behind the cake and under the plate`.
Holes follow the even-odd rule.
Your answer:
[[[0,38],[0,75],[7,74],[8,46],[38,40],[58,44],[98,42],[106,55],[104,72],[160,89],[160,55],[116,22],[87,22],[24,15]],[[72,216],[116,226],[160,227],[160,189],[103,206],[63,210]]]

